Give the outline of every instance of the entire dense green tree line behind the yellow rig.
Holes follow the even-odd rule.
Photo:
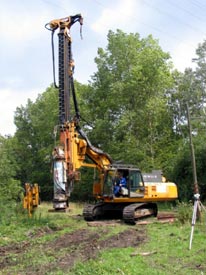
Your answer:
[[[206,197],[206,42],[198,46],[193,61],[195,69],[180,73],[151,35],[141,38],[137,33],[109,31],[108,45],[98,49],[97,72],[89,84],[75,81],[81,127],[92,144],[143,172],[163,170],[177,183],[180,200],[193,194],[186,104],[192,118],[198,183]],[[42,199],[51,199],[51,152],[58,142],[57,89],[50,86],[35,102],[28,100],[18,107],[14,120],[14,137],[1,138],[5,156],[0,163],[1,191],[6,192],[6,187],[18,196],[22,183],[38,182]],[[82,172],[74,197],[88,199],[95,172]]]

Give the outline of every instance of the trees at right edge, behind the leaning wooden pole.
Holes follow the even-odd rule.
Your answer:
[[[206,42],[199,44],[193,61],[196,68],[188,68],[184,74],[174,74],[175,87],[170,91],[171,112],[174,118],[174,129],[177,143],[177,155],[174,158],[171,177],[177,182],[181,200],[189,200],[194,193],[194,179],[191,159],[191,146],[188,134],[188,115],[186,104],[189,106],[192,128],[192,143],[196,158],[196,173],[201,198],[206,198],[205,174],[205,99],[206,99]]]

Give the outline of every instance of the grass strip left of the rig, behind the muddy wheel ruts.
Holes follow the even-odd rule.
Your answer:
[[[75,210],[74,212],[50,213],[48,210],[52,209],[52,205],[42,203],[35,210],[32,217],[28,217],[28,214],[25,211],[22,211],[21,213],[18,212],[15,218],[12,216],[12,222],[8,221],[7,223],[0,224],[0,245],[31,240],[33,237],[38,235],[41,230],[42,232],[45,231],[45,233],[50,230],[54,231],[53,233],[58,231],[63,234],[65,232],[79,229],[84,226],[84,222],[71,218],[73,213],[80,211],[79,206],[75,206],[75,208],[78,210]],[[46,235],[45,237],[51,237],[51,234]]]

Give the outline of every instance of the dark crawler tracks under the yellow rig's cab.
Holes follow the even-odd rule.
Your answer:
[[[104,203],[89,204],[84,207],[83,216],[86,221],[121,218],[125,223],[135,225],[138,219],[157,216],[155,203]]]

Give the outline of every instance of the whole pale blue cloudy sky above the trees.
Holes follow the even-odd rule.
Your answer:
[[[13,135],[16,107],[35,101],[52,83],[50,32],[53,19],[81,13],[71,29],[75,79],[87,83],[95,72],[98,47],[108,30],[152,34],[169,52],[174,67],[191,67],[199,43],[206,39],[205,0],[0,0],[0,134]],[[57,40],[57,37],[55,37]]]

